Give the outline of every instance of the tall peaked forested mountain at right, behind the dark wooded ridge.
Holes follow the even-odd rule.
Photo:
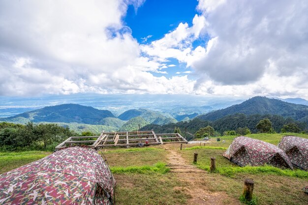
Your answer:
[[[292,117],[295,120],[308,122],[308,106],[259,96],[250,98],[241,104],[200,115],[198,118],[214,121],[237,113],[245,115],[280,115],[282,117]]]

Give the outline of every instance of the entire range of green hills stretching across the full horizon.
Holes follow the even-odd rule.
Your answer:
[[[229,127],[233,125],[230,121],[238,121],[239,118],[243,120],[239,123],[245,124],[247,120],[258,120],[264,115],[269,116],[273,120],[279,121],[281,125],[284,118],[290,117],[294,120],[308,123],[308,106],[288,103],[288,101],[296,101],[297,103],[305,103],[305,99],[290,98],[284,99],[284,101],[267,97],[252,97],[240,104],[232,105],[225,109],[212,111],[203,115],[197,113],[176,115],[172,117],[169,114],[165,114],[158,111],[148,109],[131,109],[123,112],[116,117],[108,110],[98,110],[90,106],[83,106],[78,104],[62,104],[56,106],[48,106],[38,110],[25,112],[12,117],[0,118],[0,121],[8,121],[15,123],[27,123],[27,122],[41,122],[41,123],[60,123],[62,126],[68,126],[74,130],[82,131],[91,129],[100,132],[106,131],[119,131],[119,130],[136,130],[140,127],[153,125],[155,127],[160,125],[170,124],[170,126],[182,125],[190,123],[192,119],[200,119],[202,121],[216,121],[216,125],[223,126],[228,123]],[[238,115],[242,114],[242,115]],[[251,115],[259,115],[254,117],[243,117]],[[278,117],[273,117],[273,115]],[[228,117],[229,116],[229,117]],[[282,117],[281,118],[279,118]],[[244,119],[245,118],[245,119]],[[183,121],[183,122],[178,122]],[[197,122],[194,120],[194,122]],[[198,121],[199,123],[199,121]],[[200,126],[204,123],[199,123]],[[251,122],[249,125],[254,124]],[[157,125],[157,126],[156,126]],[[192,125],[194,127],[197,127]],[[199,125],[198,125],[199,126]],[[280,128],[277,126],[277,130]],[[148,126],[147,126],[148,127]],[[233,126],[234,127],[234,126]],[[171,129],[170,127],[168,129]],[[220,129],[220,128],[219,128]],[[170,132],[170,130],[169,130]]]

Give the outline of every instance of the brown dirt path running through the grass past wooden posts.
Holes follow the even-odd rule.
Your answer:
[[[184,181],[187,186],[175,187],[179,190],[185,190],[191,198],[187,201],[187,205],[236,205],[238,204],[234,199],[231,199],[224,192],[211,192],[209,188],[202,183],[202,178],[208,175],[204,170],[190,165],[181,156],[177,150],[170,146],[165,146],[168,155],[168,167],[172,173],[175,173],[179,180]]]

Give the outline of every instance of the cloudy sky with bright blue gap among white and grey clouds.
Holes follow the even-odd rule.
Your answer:
[[[307,0],[0,0],[0,96],[308,99]]]

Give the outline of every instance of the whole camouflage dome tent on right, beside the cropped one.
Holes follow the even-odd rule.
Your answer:
[[[269,164],[293,169],[288,156],[277,146],[243,136],[235,138],[223,156],[241,167]]]

